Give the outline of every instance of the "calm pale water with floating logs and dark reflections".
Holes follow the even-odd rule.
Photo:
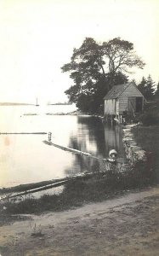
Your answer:
[[[48,132],[52,141],[105,158],[116,148],[123,156],[121,129],[90,116],[68,113],[74,106],[0,106],[0,132]],[[37,113],[37,115],[35,115]],[[98,163],[43,143],[48,135],[0,135],[0,187],[92,172]]]

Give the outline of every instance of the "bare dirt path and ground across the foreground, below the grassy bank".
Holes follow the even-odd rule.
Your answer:
[[[2,256],[159,253],[159,187],[0,227]]]

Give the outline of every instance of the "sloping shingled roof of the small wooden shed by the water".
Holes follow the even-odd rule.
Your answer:
[[[131,83],[114,85],[112,89],[105,95],[104,100],[116,99],[122,94],[129,84]]]

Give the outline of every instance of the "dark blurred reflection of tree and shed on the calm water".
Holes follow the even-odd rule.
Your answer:
[[[122,154],[121,143],[120,127],[104,125],[101,119],[94,117],[78,117],[77,135],[70,137],[68,147],[94,154],[99,158],[107,158],[112,148]],[[74,163],[65,172],[67,175],[85,171],[98,172],[100,167],[99,160],[74,154]]]

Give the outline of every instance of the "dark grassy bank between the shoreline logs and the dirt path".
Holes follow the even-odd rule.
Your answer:
[[[142,163],[129,172],[106,172],[95,174],[89,179],[70,181],[60,195],[43,195],[40,199],[21,199],[18,203],[5,201],[0,206],[1,215],[63,211],[71,207],[95,201],[104,201],[130,189],[143,189],[150,183]],[[4,208],[3,208],[4,207]]]

